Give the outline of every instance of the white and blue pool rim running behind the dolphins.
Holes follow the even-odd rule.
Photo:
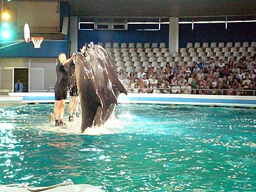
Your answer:
[[[67,102],[69,101],[68,99]],[[9,93],[8,96],[0,97],[0,105],[28,103],[54,103],[54,93]],[[256,96],[183,95],[160,93],[128,93],[128,95],[124,95],[121,93],[118,97],[118,103],[256,108]]]

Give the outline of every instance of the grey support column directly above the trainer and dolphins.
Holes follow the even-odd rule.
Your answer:
[[[78,17],[70,17],[70,53],[77,51]]]

